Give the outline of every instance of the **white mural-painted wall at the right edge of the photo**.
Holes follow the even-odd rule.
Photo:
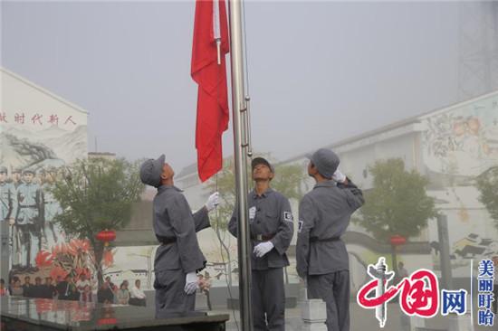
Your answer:
[[[475,182],[498,166],[498,93],[422,118],[422,123],[425,172],[430,194],[448,218],[454,277],[468,277],[471,260],[498,255],[498,231],[479,202]],[[438,240],[435,222],[429,240]],[[434,260],[437,266],[436,255]]]

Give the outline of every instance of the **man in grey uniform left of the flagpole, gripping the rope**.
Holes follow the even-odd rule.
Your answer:
[[[142,183],[158,188],[153,201],[154,232],[160,242],[154,260],[157,317],[195,310],[196,272],[206,266],[196,232],[211,226],[208,212],[219,202],[218,193],[211,194],[206,205],[192,214],[184,194],[174,185],[174,175],[164,155],[140,166]]]

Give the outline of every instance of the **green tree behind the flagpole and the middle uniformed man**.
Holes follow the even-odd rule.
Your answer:
[[[273,163],[273,162],[272,162]],[[221,203],[217,207],[215,217],[212,218],[211,226],[216,232],[216,236],[221,244],[222,256],[232,263],[230,254],[231,234],[228,232],[228,222],[232,217],[235,209],[235,174],[234,161],[232,158],[226,158],[224,167],[208,184],[210,192],[217,190],[220,193]],[[248,184],[252,187],[251,171],[248,169]],[[275,177],[271,186],[289,199],[299,200],[302,198],[302,181],[306,178],[302,166],[300,165],[275,165]],[[232,274],[230,270],[225,270],[228,275],[229,284],[232,284]]]

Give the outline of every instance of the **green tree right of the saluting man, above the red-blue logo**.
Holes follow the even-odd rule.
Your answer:
[[[372,233],[378,241],[390,243],[390,237],[417,236],[427,221],[436,217],[434,198],[426,194],[428,180],[416,170],[406,171],[399,158],[378,161],[369,167],[373,188],[365,192],[365,204],[354,222]],[[392,248],[393,268],[397,268]]]

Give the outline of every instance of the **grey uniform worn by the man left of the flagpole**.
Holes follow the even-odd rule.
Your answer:
[[[160,317],[193,311],[196,294],[187,296],[185,279],[206,265],[196,232],[210,226],[207,210],[192,214],[182,191],[167,185],[158,187],[153,208],[154,232],[161,242],[154,260],[156,313]]]

